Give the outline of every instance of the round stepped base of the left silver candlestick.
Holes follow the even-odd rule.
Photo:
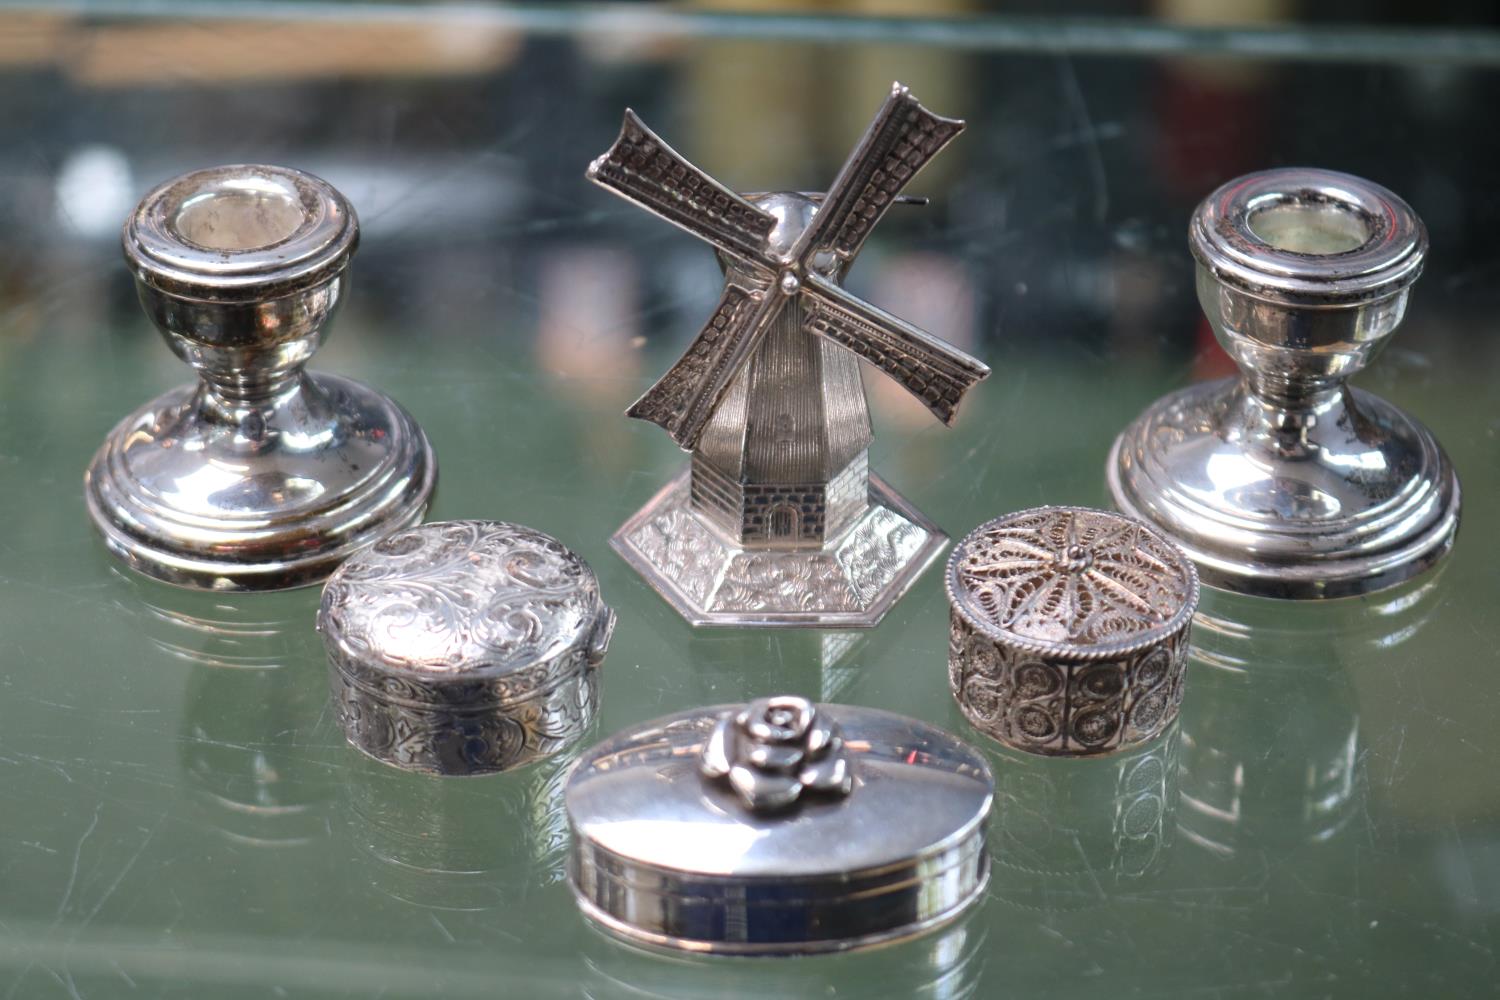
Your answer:
[[[120,421],[84,477],[88,514],[134,570],[180,586],[273,591],[422,520],[436,480],[426,435],[394,402],[300,375],[266,405],[202,384]]]

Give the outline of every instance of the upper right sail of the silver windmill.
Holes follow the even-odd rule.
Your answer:
[[[840,270],[846,267],[906,181],[960,132],[963,121],[933,114],[896,84],[789,256],[812,270],[820,255],[831,253]]]

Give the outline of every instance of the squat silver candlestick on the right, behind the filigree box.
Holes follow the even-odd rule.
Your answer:
[[[1209,586],[1318,598],[1394,586],[1458,531],[1458,477],[1422,424],[1346,385],[1395,333],[1426,229],[1348,174],[1250,174],[1198,205],[1198,301],[1238,379],[1154,403],[1114,442],[1128,514],[1182,544]]]

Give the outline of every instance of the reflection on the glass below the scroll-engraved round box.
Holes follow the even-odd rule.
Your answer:
[[[592,742],[585,735],[580,745]],[[348,751],[345,832],[382,895],[432,910],[490,910],[562,882],[562,780],[578,753],[507,774],[434,778]]]

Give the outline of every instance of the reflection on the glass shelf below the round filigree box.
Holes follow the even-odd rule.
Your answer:
[[[1088,760],[987,750],[994,895],[1028,910],[1086,909],[1160,870],[1178,808],[1176,726]]]

